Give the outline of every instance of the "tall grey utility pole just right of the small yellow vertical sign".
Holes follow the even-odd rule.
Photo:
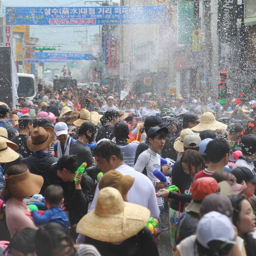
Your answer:
[[[212,38],[211,38],[211,1],[203,1],[203,49],[204,49],[204,80],[205,88],[211,87],[211,68],[212,68]]]

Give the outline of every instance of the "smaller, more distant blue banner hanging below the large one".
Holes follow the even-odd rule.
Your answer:
[[[87,53],[35,52],[33,59],[27,59],[26,62],[72,62],[73,60],[93,60],[93,55]]]

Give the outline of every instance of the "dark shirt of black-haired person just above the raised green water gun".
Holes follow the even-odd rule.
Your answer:
[[[94,162],[92,152],[89,147],[83,145],[80,141],[74,142],[69,150],[69,154],[76,154],[79,165],[83,162],[87,163],[87,167]]]

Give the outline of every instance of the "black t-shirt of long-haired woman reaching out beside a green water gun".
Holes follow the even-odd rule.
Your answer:
[[[184,173],[180,160],[176,161],[172,169],[172,184],[176,185],[181,194],[186,194],[191,185],[192,179]],[[180,203],[180,211],[183,212],[185,202]],[[179,201],[172,200],[170,207],[179,211]]]

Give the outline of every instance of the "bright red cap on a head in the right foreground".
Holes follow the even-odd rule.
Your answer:
[[[191,186],[192,198],[194,201],[202,201],[207,195],[216,193],[219,188],[216,179],[211,177],[197,179]]]

